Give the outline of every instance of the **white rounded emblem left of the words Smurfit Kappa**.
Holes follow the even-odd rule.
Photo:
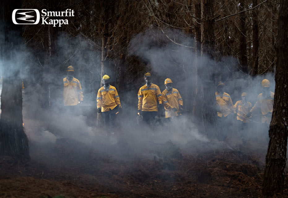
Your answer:
[[[16,25],[38,24],[40,12],[37,9],[15,9],[12,12],[12,21]]]

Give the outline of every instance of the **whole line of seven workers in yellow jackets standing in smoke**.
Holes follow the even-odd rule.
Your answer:
[[[77,105],[83,101],[83,92],[80,81],[73,77],[74,68],[67,68],[67,77],[63,79],[64,83],[64,106]],[[165,79],[165,90],[160,91],[159,87],[152,83],[150,72],[144,74],[145,85],[138,91],[138,115],[143,117],[143,121],[153,125],[159,109],[164,106],[165,118],[169,121],[172,117],[181,115],[183,109],[183,100],[179,91],[172,87],[172,80]],[[114,86],[110,85],[110,77],[102,77],[103,86],[97,93],[97,112],[102,113],[105,127],[114,126],[115,116],[121,108],[120,98]],[[257,97],[255,105],[247,101],[247,93],[241,94],[241,100],[233,104],[228,93],[224,92],[224,83],[217,83],[216,106],[217,118],[223,139],[227,136],[226,127],[230,125],[230,117],[234,115],[239,127],[244,129],[247,123],[251,121],[251,116],[261,110],[261,123],[269,125],[273,112],[274,93],[270,91],[269,80],[262,80],[262,93]],[[157,102],[158,101],[158,102]]]

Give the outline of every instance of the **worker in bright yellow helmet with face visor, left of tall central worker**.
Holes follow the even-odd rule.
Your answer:
[[[97,93],[97,111],[102,112],[105,127],[114,128],[118,108],[121,107],[120,98],[114,86],[110,85],[110,77],[104,75],[102,84]]]

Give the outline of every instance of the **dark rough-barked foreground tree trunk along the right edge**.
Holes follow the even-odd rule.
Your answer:
[[[269,146],[266,155],[262,192],[272,197],[283,193],[288,136],[288,1],[280,0],[275,96],[272,121],[269,129]]]

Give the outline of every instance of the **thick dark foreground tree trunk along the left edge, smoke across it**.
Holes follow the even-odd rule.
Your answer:
[[[12,11],[21,8],[21,1],[1,1],[1,59],[5,62],[1,93],[0,154],[29,159],[28,138],[23,130],[22,80],[20,76],[21,25],[12,22]]]

